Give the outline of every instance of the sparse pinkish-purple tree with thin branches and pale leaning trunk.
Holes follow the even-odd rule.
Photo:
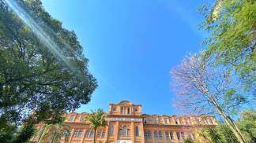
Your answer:
[[[178,67],[171,70],[172,85],[179,95],[178,105],[190,112],[217,112],[239,142],[245,142],[230,115],[247,103],[247,97],[242,90],[236,90],[242,84],[235,80],[235,75],[224,66],[216,66],[214,60],[214,57],[206,57],[203,51],[185,57]]]

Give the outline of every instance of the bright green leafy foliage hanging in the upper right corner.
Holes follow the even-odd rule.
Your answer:
[[[201,27],[210,35],[206,52],[216,57],[216,64],[238,73],[248,90],[255,89],[255,7],[254,0],[216,0],[213,8],[201,9],[205,16]]]

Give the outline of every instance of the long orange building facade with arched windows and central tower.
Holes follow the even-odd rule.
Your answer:
[[[93,142],[93,130],[85,121],[87,113],[66,113],[65,123],[71,127],[69,138],[61,142]],[[107,126],[96,133],[97,143],[168,143],[183,142],[184,138],[195,139],[197,130],[215,127],[213,116],[166,116],[146,115],[141,105],[130,101],[110,104],[107,113]],[[38,125],[38,128],[41,126]],[[36,141],[36,138],[34,138]]]

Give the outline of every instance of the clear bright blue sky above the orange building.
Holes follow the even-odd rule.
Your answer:
[[[198,30],[205,1],[43,0],[63,27],[77,34],[99,87],[77,112],[128,100],[147,114],[182,114],[172,105],[170,70],[202,49]]]

